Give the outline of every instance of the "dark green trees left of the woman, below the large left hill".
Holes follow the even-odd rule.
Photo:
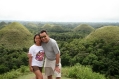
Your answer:
[[[28,65],[26,50],[8,50],[0,47],[0,74]]]

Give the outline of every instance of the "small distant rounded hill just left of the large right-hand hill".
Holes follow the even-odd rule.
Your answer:
[[[82,32],[92,32],[94,30],[94,28],[90,25],[87,25],[87,24],[81,24],[81,25],[78,25],[77,27],[75,27],[73,29],[74,31],[82,31]]]

